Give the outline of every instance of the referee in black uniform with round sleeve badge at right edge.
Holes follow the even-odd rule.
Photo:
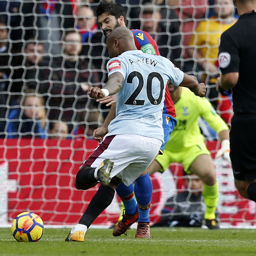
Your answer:
[[[240,195],[256,202],[256,0],[233,0],[239,19],[221,36],[218,91],[233,91],[230,158]]]

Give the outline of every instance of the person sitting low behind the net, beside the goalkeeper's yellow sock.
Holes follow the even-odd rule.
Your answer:
[[[202,227],[205,212],[203,182],[197,175],[185,172],[183,182],[184,191],[168,198],[160,221],[152,227]]]

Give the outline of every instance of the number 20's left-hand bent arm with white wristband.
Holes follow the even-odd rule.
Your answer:
[[[123,75],[120,72],[115,72],[109,75],[108,82],[103,89],[90,87],[88,89],[88,94],[93,99],[103,99],[108,95],[114,95],[121,90],[123,80]]]

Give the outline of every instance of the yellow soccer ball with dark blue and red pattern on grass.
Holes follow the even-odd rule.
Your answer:
[[[33,212],[22,212],[13,220],[12,234],[18,242],[37,242],[43,232],[44,223]]]

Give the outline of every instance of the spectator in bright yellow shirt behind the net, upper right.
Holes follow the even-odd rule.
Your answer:
[[[232,0],[215,0],[215,16],[199,22],[195,33],[192,35],[188,49],[190,57],[193,57],[201,66],[204,74],[202,81],[208,84],[206,97],[217,108],[218,93],[215,89],[216,78],[219,76],[218,48],[221,34],[234,25],[234,4]],[[226,120],[225,120],[226,121]]]

